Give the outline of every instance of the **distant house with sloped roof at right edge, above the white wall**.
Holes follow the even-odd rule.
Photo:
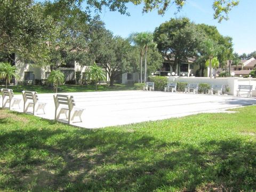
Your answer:
[[[248,76],[250,72],[254,69],[254,66],[256,65],[256,59],[251,58],[247,60],[241,60],[241,62],[237,66],[232,65],[232,61],[228,60],[227,65],[222,69],[228,71],[230,63],[231,63],[230,73],[234,72],[235,76],[240,76],[240,75]]]

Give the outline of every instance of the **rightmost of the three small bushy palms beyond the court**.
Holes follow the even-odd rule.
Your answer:
[[[90,70],[88,72],[88,78],[94,81],[95,91],[97,91],[97,83],[99,83],[100,81],[105,80],[106,79],[106,74],[102,70],[102,68],[97,66],[96,63],[94,62],[94,64],[92,66],[90,66]]]

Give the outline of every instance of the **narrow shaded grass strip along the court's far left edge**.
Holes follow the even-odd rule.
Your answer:
[[[0,89],[5,88],[1,86]],[[21,94],[21,91],[37,91],[37,93],[55,93],[55,88],[50,86],[41,85],[15,85],[8,86],[8,89],[12,89],[15,94]],[[113,87],[109,85],[98,85],[98,91],[121,91],[121,90],[133,90],[133,86],[126,86],[123,84],[115,84]],[[95,91],[94,85],[60,85],[59,93],[67,92],[88,92]]]

